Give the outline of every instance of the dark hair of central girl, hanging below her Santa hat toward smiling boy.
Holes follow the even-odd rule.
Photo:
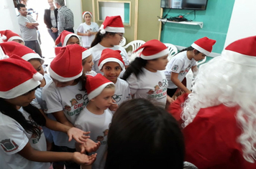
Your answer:
[[[145,67],[147,64],[146,59],[141,57],[136,57],[130,66],[124,72],[122,79],[126,80],[132,73],[138,78],[140,74],[143,73],[142,67]]]

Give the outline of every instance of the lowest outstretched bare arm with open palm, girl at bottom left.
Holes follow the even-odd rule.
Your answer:
[[[31,147],[30,143],[27,143],[25,147],[18,152],[19,155],[26,158],[27,160],[37,161],[37,162],[55,162],[55,161],[73,161],[80,165],[91,165],[95,160],[96,155],[85,155],[82,153],[58,153],[50,151],[39,151]]]

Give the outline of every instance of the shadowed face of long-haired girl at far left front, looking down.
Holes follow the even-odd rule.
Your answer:
[[[13,99],[6,99],[6,102],[11,103],[12,105],[24,107],[29,105],[29,103],[32,102],[33,99],[35,99],[35,90],[24,93],[23,95],[20,95]]]

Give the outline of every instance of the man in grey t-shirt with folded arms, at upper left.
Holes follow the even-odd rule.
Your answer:
[[[37,26],[39,25],[35,19],[27,15],[27,8],[24,4],[17,4],[19,11],[18,23],[20,32],[22,33],[22,39],[24,39],[25,46],[34,50],[42,57],[42,51],[37,39]]]

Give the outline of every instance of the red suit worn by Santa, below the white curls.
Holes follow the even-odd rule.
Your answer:
[[[170,105],[170,113],[178,122],[181,104],[188,97],[184,94]],[[186,145],[185,160],[201,168],[254,169],[242,156],[242,146],[237,141],[242,130],[236,120],[239,107],[217,105],[201,108],[196,117],[183,129]]]

